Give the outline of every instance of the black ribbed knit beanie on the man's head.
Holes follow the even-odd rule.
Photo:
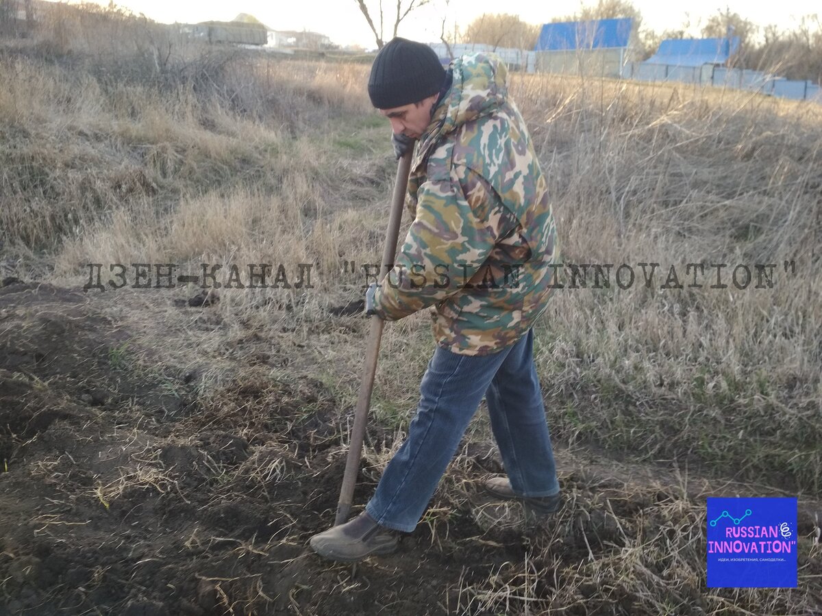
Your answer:
[[[376,54],[368,78],[368,95],[377,109],[417,103],[439,94],[446,70],[426,44],[399,36]]]

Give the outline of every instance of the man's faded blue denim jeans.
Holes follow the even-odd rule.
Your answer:
[[[366,505],[376,522],[413,531],[483,395],[515,493],[538,497],[560,491],[529,330],[519,342],[487,356],[436,348],[420,384],[408,438]]]

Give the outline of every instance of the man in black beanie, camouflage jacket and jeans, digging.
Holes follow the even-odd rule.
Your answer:
[[[396,549],[483,395],[508,476],[487,480],[487,492],[539,515],[561,505],[531,329],[551,291],[556,226],[506,76],[497,57],[483,54],[457,58],[446,72],[427,45],[400,38],[374,60],[368,94],[390,121],[396,153],[418,145],[407,195],[415,219],[366,308],[386,320],[432,308],[437,347],[408,438],[365,511],[312,537],[328,559]]]

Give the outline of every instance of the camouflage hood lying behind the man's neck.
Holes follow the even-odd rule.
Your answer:
[[[434,109],[431,124],[420,140],[414,167],[443,136],[493,113],[508,96],[508,69],[505,62],[492,53],[472,53],[455,58],[450,71],[451,87]]]

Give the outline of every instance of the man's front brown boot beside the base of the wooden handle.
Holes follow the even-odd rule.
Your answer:
[[[373,554],[397,549],[399,532],[380,526],[366,512],[311,538],[312,549],[323,558],[355,563]]]

